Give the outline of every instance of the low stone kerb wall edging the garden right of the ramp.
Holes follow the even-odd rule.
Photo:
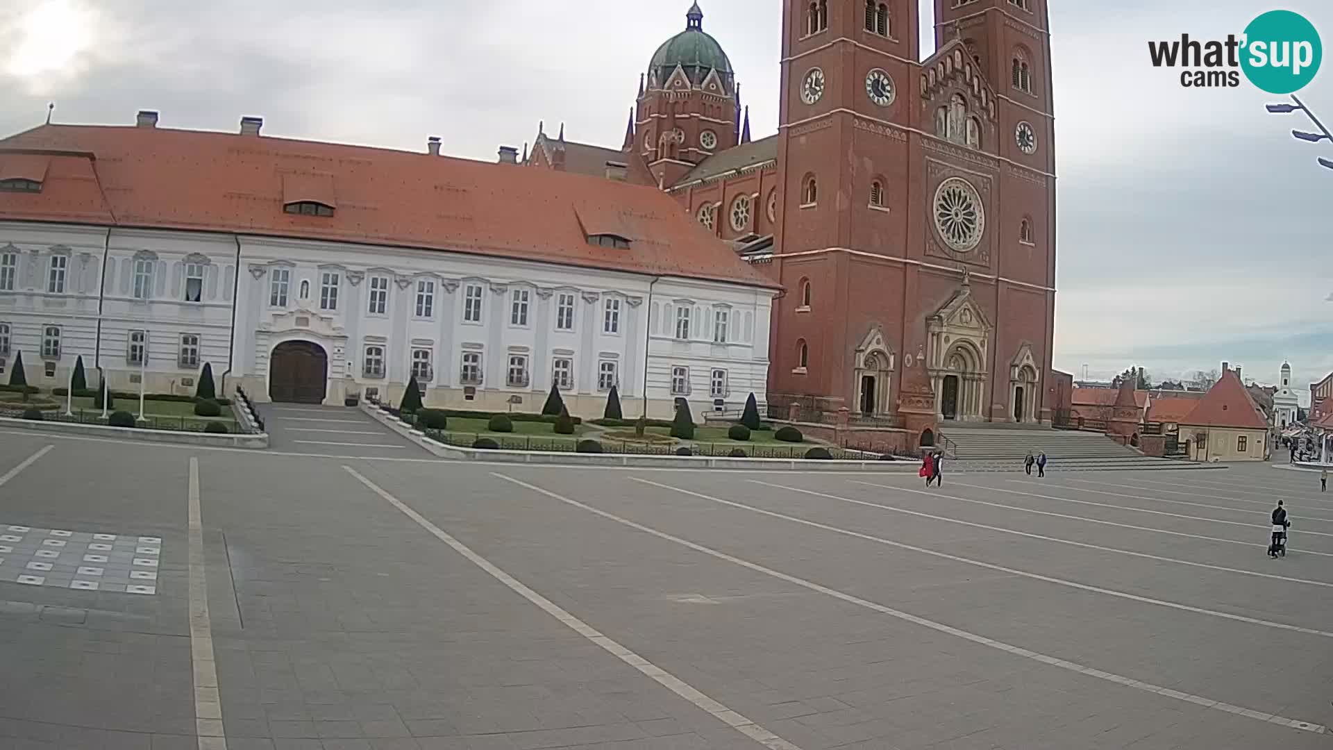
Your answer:
[[[818,460],[786,458],[663,456],[635,454],[575,454],[551,451],[488,451],[447,446],[427,438],[376,404],[361,403],[361,411],[427,451],[456,460],[493,463],[541,463],[560,466],[636,466],[644,468],[748,468],[762,471],[881,471],[914,472],[914,462],[902,460]]]

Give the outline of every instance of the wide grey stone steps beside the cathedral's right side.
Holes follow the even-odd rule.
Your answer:
[[[1045,451],[1046,471],[1209,468],[1201,463],[1149,458],[1100,432],[1006,423],[941,426],[941,432],[956,446],[957,456],[952,463],[960,470],[1022,471],[1022,459],[1029,451],[1032,455]]]

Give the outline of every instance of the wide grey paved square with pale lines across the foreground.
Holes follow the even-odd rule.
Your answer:
[[[0,484],[32,526],[0,524],[5,747],[1333,742],[1317,475],[952,471],[924,490],[3,431],[0,474],[48,444]],[[68,486],[104,496],[36,500]],[[157,594],[108,593],[113,567]]]

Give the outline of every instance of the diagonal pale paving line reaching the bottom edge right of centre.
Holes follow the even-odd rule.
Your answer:
[[[540,607],[543,611],[545,611],[551,617],[556,618],[557,621],[560,621],[561,623],[564,623],[565,626],[568,626],[575,633],[583,635],[588,641],[591,641],[591,642],[596,643],[597,646],[600,646],[608,654],[612,654],[617,659],[620,659],[620,661],[625,662],[627,665],[635,667],[636,670],[639,670],[640,673],[643,673],[645,677],[652,678],[655,682],[657,682],[663,687],[665,687],[665,689],[670,690],[672,693],[674,693],[676,695],[680,695],[681,698],[689,701],[690,703],[693,703],[698,709],[701,709],[701,710],[712,714],[714,718],[717,718],[718,721],[721,721],[726,726],[734,729],[736,731],[738,731],[742,735],[745,735],[745,737],[748,737],[748,738],[758,742],[760,745],[762,745],[765,747],[769,747],[772,750],[801,750],[801,747],[798,747],[798,746],[788,742],[786,739],[782,739],[781,737],[773,734],[772,731],[769,731],[769,730],[764,729],[762,726],[754,723],[753,721],[745,718],[740,713],[737,713],[737,711],[734,711],[734,710],[724,706],[722,703],[714,701],[713,698],[709,698],[708,695],[705,695],[704,693],[698,691],[697,689],[694,689],[689,683],[686,683],[682,679],[677,678],[676,675],[673,675],[673,674],[663,670],[661,667],[659,667],[657,665],[655,665],[655,663],[649,662],[648,659],[640,657],[639,654],[631,651],[629,649],[624,647],[619,642],[613,641],[612,638],[608,638],[607,635],[604,635],[599,630],[593,629],[592,626],[589,626],[584,621],[581,621],[577,617],[569,614],[568,611],[565,611],[564,609],[561,609],[560,606],[557,606],[552,601],[547,599],[541,594],[537,594],[536,591],[533,591],[532,589],[529,589],[528,586],[525,586],[523,582],[517,581],[516,578],[513,578],[512,575],[509,575],[504,570],[496,567],[493,563],[491,563],[489,560],[487,560],[485,558],[483,558],[477,552],[472,551],[471,547],[468,547],[463,542],[459,542],[452,535],[449,535],[448,532],[445,532],[444,530],[441,530],[439,526],[431,523],[425,516],[423,516],[421,514],[419,514],[417,511],[415,511],[411,506],[408,506],[403,500],[395,498],[392,494],[389,494],[388,491],[385,491],[384,488],[381,488],[379,484],[376,484],[376,483],[371,482],[369,479],[367,479],[365,476],[363,476],[360,472],[357,472],[351,466],[344,466],[343,468],[348,474],[351,474],[353,478],[356,478],[359,482],[361,482],[363,484],[365,484],[365,487],[369,488],[372,492],[375,492],[376,495],[379,495],[383,499],[388,500],[389,504],[392,504],[397,510],[403,511],[404,515],[407,515],[413,522],[416,522],[419,526],[421,526],[423,528],[425,528],[428,532],[431,532],[431,535],[433,535],[435,538],[440,539],[441,542],[444,542],[445,544],[448,544],[449,547],[452,547],[456,552],[459,552],[460,555],[463,555],[464,558],[467,558],[469,562],[472,562],[473,565],[476,565],[477,567],[480,567],[481,570],[484,570],[492,578],[495,578],[496,581],[504,583],[512,591],[515,591],[516,594],[519,594],[524,599],[528,599],[529,602],[532,602],[533,605],[536,605],[537,607]],[[500,476],[503,479],[509,479],[508,476],[503,476],[500,474],[496,474],[496,476]],[[517,479],[509,479],[509,480],[511,482],[516,482],[519,484],[523,484],[523,482],[519,482]],[[203,747],[200,750],[203,750]]]

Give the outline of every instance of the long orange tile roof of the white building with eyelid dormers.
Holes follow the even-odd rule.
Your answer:
[[[0,219],[384,244],[777,288],[669,195],[603,176],[167,128],[41,125],[0,140],[0,164],[35,153],[49,157],[41,192],[0,192]],[[285,214],[289,190],[336,196],[337,211]],[[579,206],[597,207],[597,223],[619,227],[631,248],[588,244]]]

